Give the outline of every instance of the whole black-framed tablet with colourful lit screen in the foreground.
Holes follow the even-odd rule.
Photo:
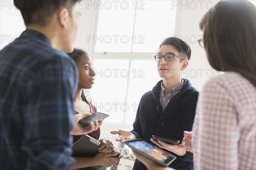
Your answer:
[[[148,159],[151,159],[152,161],[155,161],[166,167],[176,159],[176,156],[144,141],[143,139],[124,141],[123,143],[127,144],[128,147],[131,147]]]

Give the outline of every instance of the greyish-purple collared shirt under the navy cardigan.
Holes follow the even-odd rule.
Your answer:
[[[177,85],[175,88],[173,88],[170,91],[167,91],[164,87],[163,87],[163,82],[161,83],[161,89],[160,89],[160,94],[159,94],[159,99],[160,99],[160,103],[162,105],[163,111],[165,110],[166,106],[168,105],[168,103],[171,101],[171,99],[173,98],[173,96],[175,96],[177,93],[180,92],[181,88],[184,85],[184,81],[183,79],[181,79],[181,82],[179,85]]]

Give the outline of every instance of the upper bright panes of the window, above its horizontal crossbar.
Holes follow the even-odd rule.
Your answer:
[[[176,7],[170,0],[102,1],[96,52],[156,52],[174,34]],[[111,8],[110,8],[111,6]]]

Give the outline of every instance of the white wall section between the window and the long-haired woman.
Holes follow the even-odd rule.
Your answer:
[[[212,76],[213,69],[207,61],[204,48],[201,48],[197,42],[203,34],[199,28],[199,23],[213,3],[218,1],[203,1],[201,3],[198,1],[197,3],[192,3],[192,1],[186,1],[186,3],[178,2],[180,6],[177,8],[175,32],[180,39],[185,40],[189,44],[192,50],[187,72],[183,71],[182,75],[184,78],[187,77],[192,85],[201,91],[204,82]],[[182,6],[181,4],[186,5]],[[217,72],[214,74],[217,74]]]

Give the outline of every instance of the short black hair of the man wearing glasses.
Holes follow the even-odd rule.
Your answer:
[[[182,56],[182,57],[185,57],[185,59],[187,59],[187,60],[189,60],[190,57],[191,57],[191,48],[189,47],[189,45],[185,41],[180,40],[177,37],[168,37],[168,38],[166,38],[160,44],[159,49],[163,45],[173,45],[173,46],[175,46],[175,48],[177,48],[177,50],[179,51],[179,55]]]

